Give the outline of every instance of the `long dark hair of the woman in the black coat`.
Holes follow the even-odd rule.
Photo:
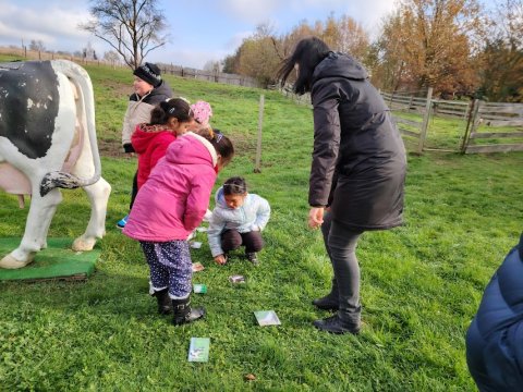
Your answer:
[[[283,86],[289,74],[297,64],[297,79],[294,83],[294,93],[305,94],[311,91],[311,82],[316,65],[324,60],[330,52],[330,48],[318,37],[308,37],[300,40],[290,57],[283,60],[278,71],[277,77]]]

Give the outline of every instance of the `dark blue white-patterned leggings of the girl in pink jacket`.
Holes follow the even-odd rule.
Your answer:
[[[183,298],[192,290],[192,261],[186,241],[165,243],[141,241],[150,269],[150,287],[160,291],[169,287],[171,298]]]

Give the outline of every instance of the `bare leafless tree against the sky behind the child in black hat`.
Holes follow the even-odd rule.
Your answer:
[[[167,27],[158,0],[90,0],[93,20],[78,25],[108,42],[131,68],[167,42]]]

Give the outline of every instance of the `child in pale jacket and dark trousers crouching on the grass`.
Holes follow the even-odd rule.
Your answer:
[[[224,265],[228,253],[245,246],[245,255],[258,265],[256,253],[264,247],[262,231],[270,217],[269,203],[247,193],[243,177],[230,177],[216,193],[216,207],[207,237],[215,261]]]

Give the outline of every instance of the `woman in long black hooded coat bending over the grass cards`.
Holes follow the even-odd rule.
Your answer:
[[[364,231],[402,223],[405,149],[389,109],[352,57],[332,52],[319,38],[304,38],[279,71],[282,84],[293,70],[294,91],[311,91],[314,111],[308,225],[321,228],[335,274],[331,292],[313,304],[338,310],[314,324],[358,333],[356,243]]]

